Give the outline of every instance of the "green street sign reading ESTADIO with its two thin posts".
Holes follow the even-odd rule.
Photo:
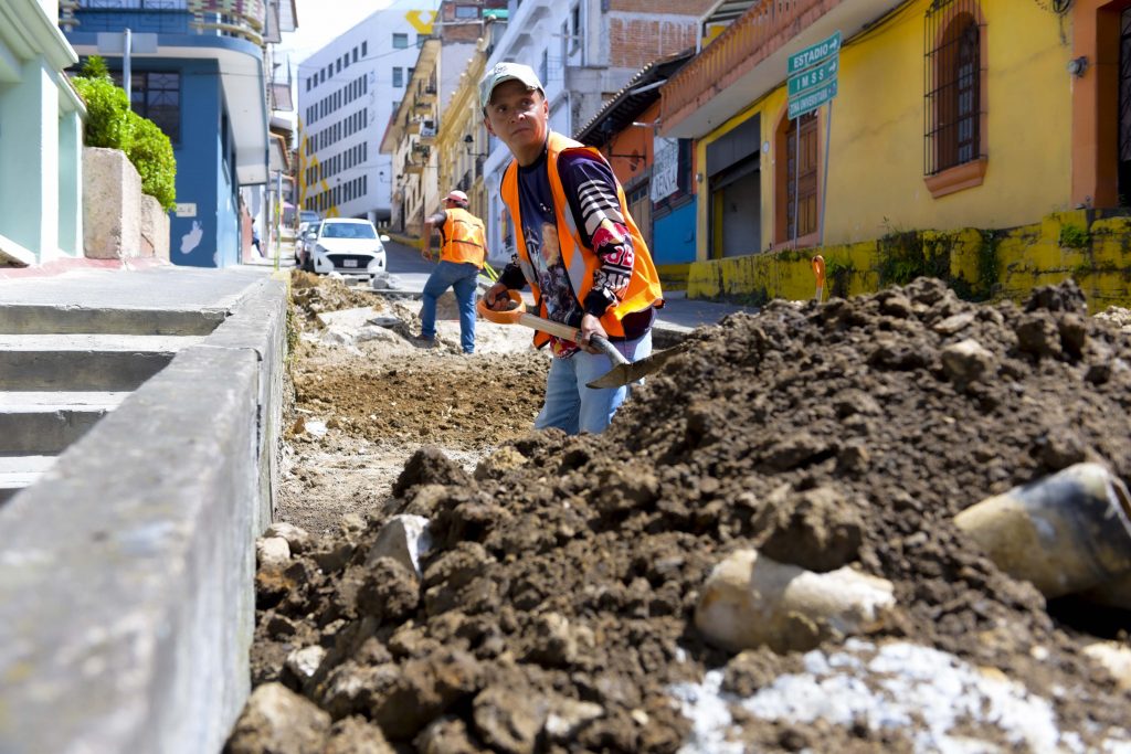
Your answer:
[[[801,176],[801,118],[828,104],[824,122],[824,172],[821,185],[821,217],[818,243],[824,243],[824,205],[829,185],[829,135],[832,130],[832,99],[837,96],[837,75],[840,70],[840,32],[789,55],[786,64],[786,94],[788,118],[795,120],[796,150],[793,168],[793,244],[797,248],[800,215],[798,179]]]

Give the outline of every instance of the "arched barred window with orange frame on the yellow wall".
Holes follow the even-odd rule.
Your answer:
[[[985,174],[985,27],[977,0],[935,2],[926,14],[923,172],[935,197]]]

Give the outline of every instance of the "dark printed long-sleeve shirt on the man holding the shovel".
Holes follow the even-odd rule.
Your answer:
[[[578,327],[582,314],[601,317],[624,296],[632,276],[636,250],[616,198],[616,179],[608,166],[588,155],[575,154],[563,155],[558,171],[581,243],[598,258],[593,288],[580,305],[561,258],[545,153],[533,165],[518,168],[523,237],[549,318]],[[508,265],[500,280],[508,288],[526,286],[526,278],[517,263]],[[644,336],[653,319],[650,307],[625,315],[622,320],[624,339],[634,340]],[[554,355],[561,357],[577,350],[576,344],[560,338],[551,338],[551,348]]]

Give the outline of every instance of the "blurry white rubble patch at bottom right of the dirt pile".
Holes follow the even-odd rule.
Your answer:
[[[804,671],[782,675],[748,697],[722,691],[723,670],[668,693],[693,728],[681,754],[737,754],[732,707],[770,722],[821,721],[851,729],[903,731],[915,752],[975,754],[1017,751],[1053,754],[1089,749],[1079,731],[1061,730],[1053,704],[991,668],[907,642],[875,645],[849,639],[834,652],[805,653]],[[748,723],[757,725],[757,723]],[[1095,731],[1089,731],[1095,733]],[[1126,730],[1103,731],[1099,751],[1131,751]],[[1089,736],[1090,737],[1090,736]]]

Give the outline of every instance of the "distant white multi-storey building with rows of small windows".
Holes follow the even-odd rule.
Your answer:
[[[299,63],[302,209],[388,223],[390,155],[381,137],[432,33],[439,0],[398,0]]]

